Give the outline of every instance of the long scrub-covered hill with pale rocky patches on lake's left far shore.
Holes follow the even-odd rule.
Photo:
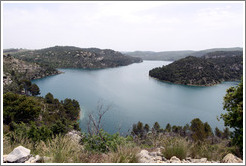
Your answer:
[[[12,52],[18,59],[53,68],[108,68],[142,62],[141,58],[123,55],[110,49],[55,46],[40,50]]]

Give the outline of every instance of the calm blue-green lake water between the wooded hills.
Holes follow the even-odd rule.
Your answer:
[[[148,75],[154,67],[167,61],[144,61],[129,66],[101,69],[59,69],[63,74],[33,80],[41,96],[51,92],[55,98],[76,99],[80,103],[82,131],[87,129],[88,112],[96,112],[100,101],[110,110],[104,115],[103,128],[114,133],[126,133],[133,123],[141,121],[150,126],[154,122],[164,128],[185,125],[194,118],[208,122],[214,129],[223,129],[217,116],[224,113],[223,96],[226,89],[238,82],[225,82],[212,87],[176,85],[155,80]]]

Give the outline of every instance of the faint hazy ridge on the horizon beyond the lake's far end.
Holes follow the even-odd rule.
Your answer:
[[[162,52],[134,51],[134,52],[124,52],[124,53],[133,57],[142,58],[143,60],[175,61],[187,56],[201,57],[209,52],[215,52],[215,51],[243,51],[243,48],[241,47],[213,48],[213,49],[206,49],[201,51],[192,51],[192,50],[162,51]]]

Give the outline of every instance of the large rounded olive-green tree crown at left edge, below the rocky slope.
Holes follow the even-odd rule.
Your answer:
[[[41,111],[39,102],[33,97],[18,95],[11,92],[3,96],[3,122],[9,124],[36,120]]]

